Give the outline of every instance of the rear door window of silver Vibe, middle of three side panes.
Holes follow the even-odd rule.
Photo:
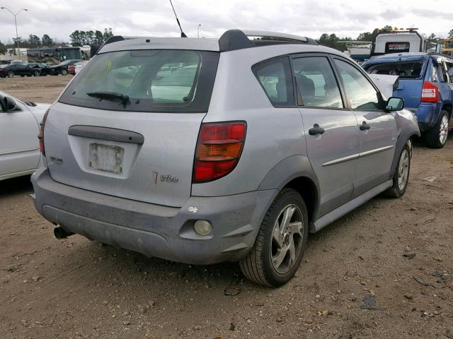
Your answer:
[[[304,106],[344,107],[338,83],[326,57],[294,59],[293,68]]]

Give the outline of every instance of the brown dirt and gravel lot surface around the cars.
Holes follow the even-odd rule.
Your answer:
[[[48,101],[68,79],[0,88]],[[234,263],[57,240],[30,178],[0,182],[0,338],[453,338],[452,174],[453,138],[442,150],[416,144],[406,195],[311,235],[296,278],[276,290]]]

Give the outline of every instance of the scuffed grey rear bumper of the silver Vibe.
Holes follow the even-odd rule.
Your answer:
[[[267,190],[193,196],[182,208],[172,208],[60,184],[47,168],[38,169],[32,182],[38,212],[68,232],[147,256],[203,265],[246,256],[277,194],[277,190]],[[190,207],[196,212],[190,212]],[[212,233],[196,234],[195,220],[210,221]]]

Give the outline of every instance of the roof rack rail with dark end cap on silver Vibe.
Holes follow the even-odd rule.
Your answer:
[[[252,39],[251,39],[252,38]],[[314,44],[318,43],[309,37],[300,37],[280,32],[265,30],[227,30],[219,38],[220,52],[234,51],[270,44]]]

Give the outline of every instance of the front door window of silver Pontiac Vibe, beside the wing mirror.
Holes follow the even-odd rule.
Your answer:
[[[338,73],[343,81],[352,109],[381,109],[379,95],[367,78],[354,66],[345,61],[334,59]]]

